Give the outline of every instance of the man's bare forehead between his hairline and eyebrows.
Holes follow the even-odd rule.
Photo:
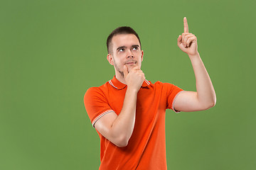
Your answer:
[[[139,40],[134,34],[118,34],[112,38],[113,47],[139,45]],[[140,45],[139,45],[140,46]]]

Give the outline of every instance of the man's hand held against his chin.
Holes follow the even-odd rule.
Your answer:
[[[145,75],[138,66],[133,67],[128,73],[128,67],[124,65],[124,79],[129,88],[139,91],[145,79]]]

